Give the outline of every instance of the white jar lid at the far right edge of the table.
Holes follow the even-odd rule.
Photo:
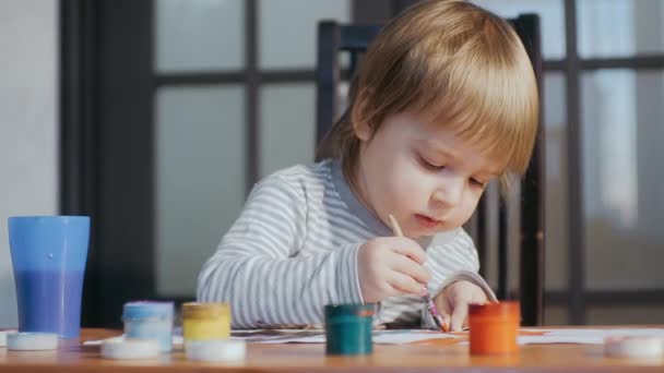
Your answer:
[[[604,338],[604,354],[613,358],[662,358],[664,339],[647,336]]]

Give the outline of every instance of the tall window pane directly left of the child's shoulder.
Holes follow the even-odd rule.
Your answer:
[[[194,296],[203,262],[245,200],[245,91],[161,88],[156,96],[157,293]]]

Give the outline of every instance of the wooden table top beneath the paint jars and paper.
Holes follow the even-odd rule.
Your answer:
[[[8,351],[0,348],[0,372],[664,372],[655,361],[605,358],[602,346],[526,345],[510,357],[474,357],[467,345],[439,339],[415,345],[375,345],[360,358],[327,357],[325,346],[249,345],[246,361],[199,363],[181,350],[155,360],[117,361],[99,356],[99,347],[81,341],[108,338],[119,330],[85,329],[80,340],[67,340],[57,351]]]

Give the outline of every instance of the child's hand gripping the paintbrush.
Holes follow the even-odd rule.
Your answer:
[[[365,302],[401,293],[426,294],[429,273],[422,266],[426,253],[404,237],[380,237],[365,242],[357,253],[359,288]]]

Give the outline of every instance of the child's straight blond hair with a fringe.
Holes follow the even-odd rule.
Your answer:
[[[509,172],[525,172],[537,133],[535,74],[519,36],[462,0],[423,1],[388,23],[367,50],[348,103],[317,159],[340,157],[352,185],[360,121],[375,134],[391,115],[430,113],[487,155],[507,156],[503,184]]]

